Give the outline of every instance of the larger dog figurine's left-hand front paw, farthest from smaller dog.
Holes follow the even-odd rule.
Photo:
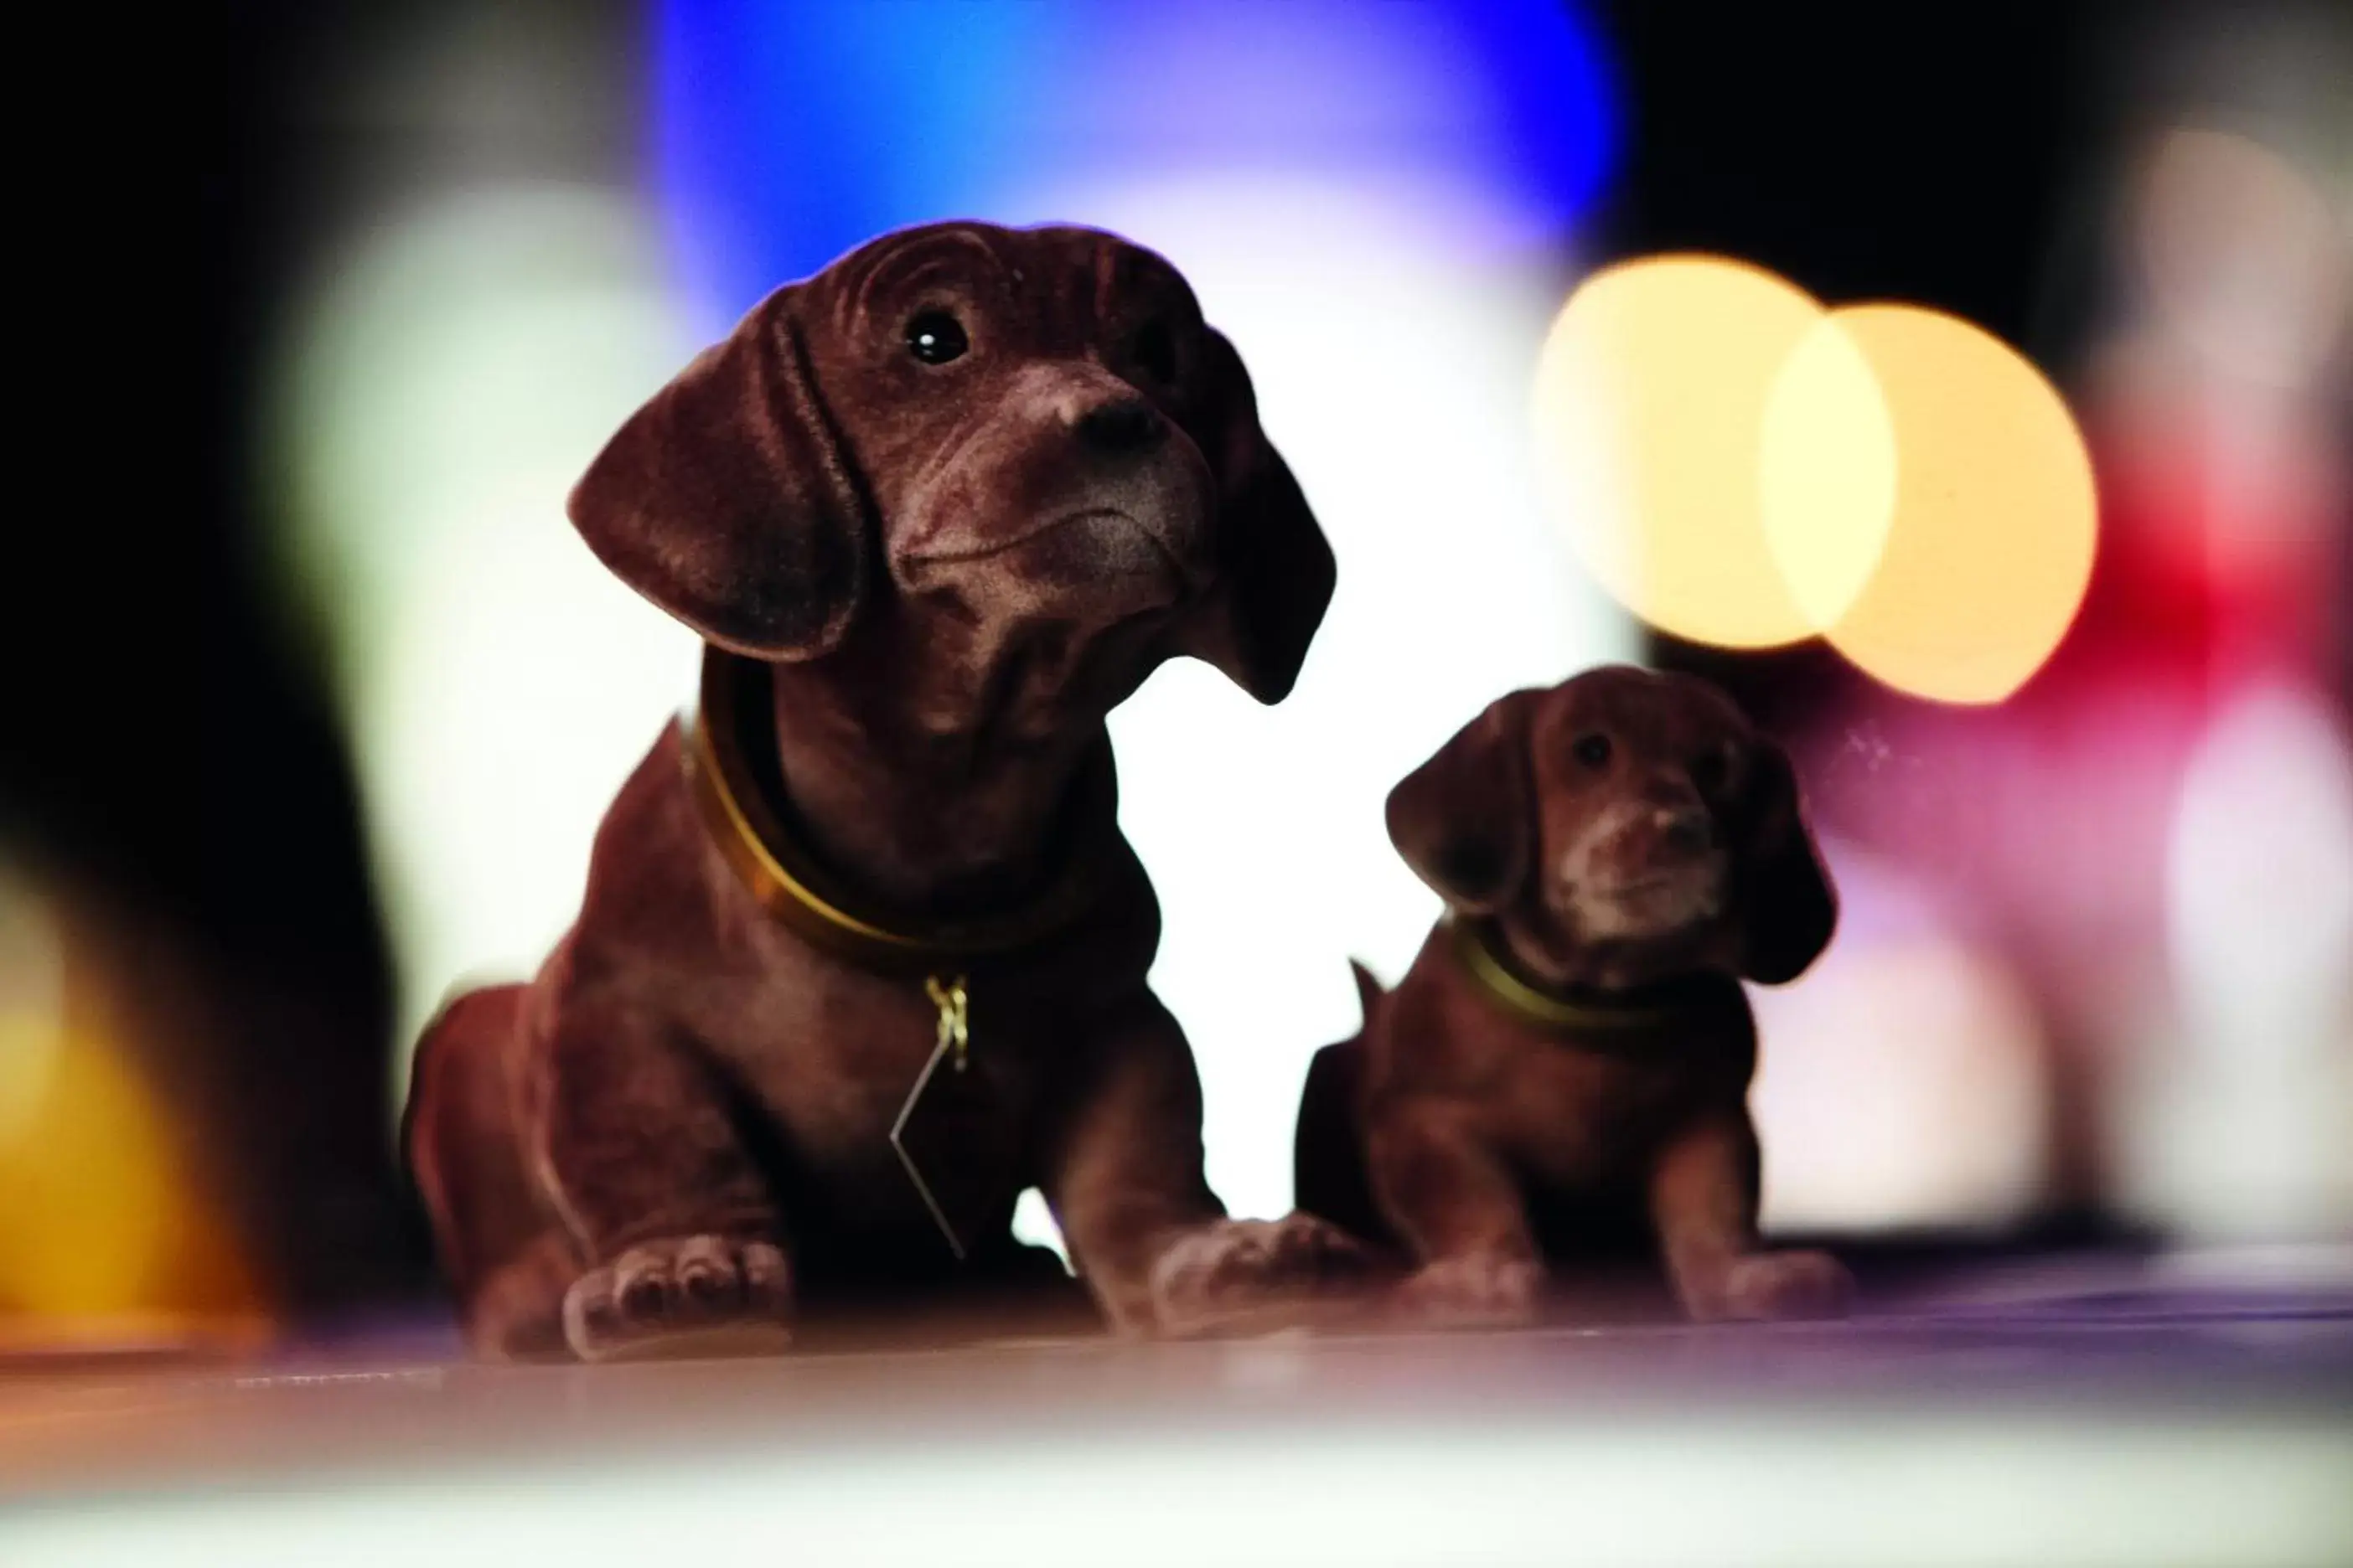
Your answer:
[[[588,1269],[565,1291],[565,1340],[581,1361],[628,1354],[781,1349],[793,1281],[767,1241],[666,1237]]]

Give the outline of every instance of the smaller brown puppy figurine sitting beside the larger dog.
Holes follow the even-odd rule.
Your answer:
[[[1798,785],[1713,686],[1633,668],[1515,691],[1388,797],[1447,900],[1299,1110],[1299,1206],[1419,1267],[1405,1300],[1515,1321],[1546,1262],[1657,1244],[1699,1319],[1831,1312],[1845,1269],[1758,1248],[1755,1027],[1838,905]]]

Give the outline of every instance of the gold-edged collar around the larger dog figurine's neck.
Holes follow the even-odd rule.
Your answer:
[[[859,910],[807,849],[781,780],[762,780],[774,773],[774,724],[767,665],[704,646],[701,703],[687,726],[687,783],[727,865],[760,907],[812,945],[864,969],[941,976],[1033,947],[1094,903],[1104,856],[1089,853],[1092,844],[1064,844],[1064,867],[1009,910],[953,922]],[[1078,788],[1108,792],[1108,762],[1106,745]]]

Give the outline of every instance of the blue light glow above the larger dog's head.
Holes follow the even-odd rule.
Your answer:
[[[1609,82],[1558,0],[664,0],[656,169],[687,292],[734,315],[904,223],[1078,219],[1120,179],[1478,188],[1567,230]]]

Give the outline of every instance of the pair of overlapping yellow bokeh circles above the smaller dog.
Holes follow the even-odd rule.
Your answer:
[[[1577,557],[1675,637],[1821,635],[1899,691],[1998,703],[2089,585],[2092,461],[2066,402],[1939,310],[1824,310],[1718,256],[1628,261],[1560,308],[1534,416]]]

